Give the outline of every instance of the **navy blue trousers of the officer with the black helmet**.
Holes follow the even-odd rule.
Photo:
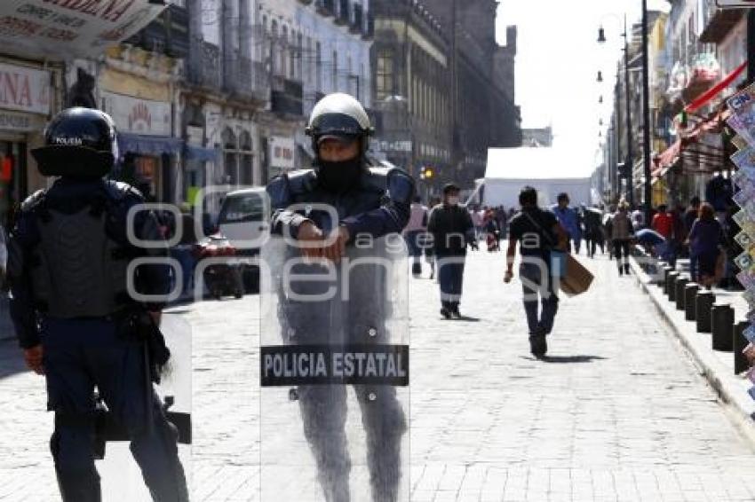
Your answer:
[[[42,333],[48,409],[56,415],[50,446],[63,500],[101,498],[93,450],[95,387],[128,431],[131,453],[154,500],[187,500],[176,429],[151,384],[147,388],[144,344],[119,336],[115,322],[104,318],[48,318]]]

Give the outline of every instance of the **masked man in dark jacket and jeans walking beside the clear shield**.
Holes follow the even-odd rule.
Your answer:
[[[441,283],[441,315],[461,318],[462,285],[466,246],[474,239],[474,226],[469,212],[459,205],[460,189],[449,183],[443,187],[443,202],[433,208],[427,231],[433,235],[438,278]]]

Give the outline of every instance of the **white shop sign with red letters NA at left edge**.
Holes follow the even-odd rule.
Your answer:
[[[0,108],[50,113],[50,72],[0,63]]]

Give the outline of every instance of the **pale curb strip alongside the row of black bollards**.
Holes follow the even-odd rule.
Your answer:
[[[633,256],[631,265],[638,286],[648,294],[664,325],[679,340],[692,357],[701,376],[716,391],[735,426],[755,447],[755,402],[747,394],[747,389],[752,387],[750,381],[735,375],[733,365],[728,366],[720,360],[719,355],[711,349],[711,335],[696,333],[694,323],[684,318],[683,311],[676,310],[676,305],[668,301],[663,289],[650,281]]]

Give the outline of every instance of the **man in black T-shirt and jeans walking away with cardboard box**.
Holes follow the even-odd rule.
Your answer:
[[[519,203],[521,211],[513,216],[509,224],[504,282],[509,283],[513,278],[513,264],[519,244],[519,275],[530,351],[536,357],[544,357],[548,351],[546,337],[552,332],[559,308],[551,259],[559,251],[568,251],[568,233],[552,211],[537,207],[537,191],[531,186],[522,188]],[[541,303],[542,311],[538,312]]]

